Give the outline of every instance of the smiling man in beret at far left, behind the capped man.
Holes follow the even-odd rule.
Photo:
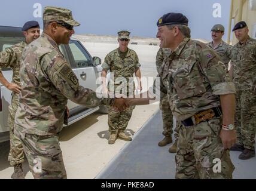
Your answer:
[[[11,166],[14,166],[14,172],[11,178],[25,178],[22,169],[22,163],[24,162],[24,151],[20,138],[17,137],[14,132],[14,118],[19,105],[18,98],[20,93],[20,61],[22,58],[22,51],[24,48],[37,39],[40,35],[39,24],[37,21],[28,21],[24,24],[23,34],[25,35],[25,41],[6,48],[0,53],[0,82],[2,85],[12,91],[11,104],[9,106],[8,125],[10,127],[10,153],[8,161]],[[10,83],[2,75],[2,69],[4,67],[10,67],[13,70],[13,81]]]

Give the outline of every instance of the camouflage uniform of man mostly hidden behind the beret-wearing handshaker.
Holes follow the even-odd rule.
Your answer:
[[[157,73],[161,72],[161,67],[163,66],[163,61],[167,57],[169,57],[171,51],[169,48],[160,48],[159,51],[157,51],[157,56],[156,56],[156,67],[157,67]],[[173,134],[173,116],[172,116],[172,111],[170,110],[170,103],[167,98],[167,94],[164,97],[160,98],[160,109],[162,111],[162,119],[163,119],[163,135],[165,137],[172,137]],[[175,134],[174,137],[178,138],[178,128],[180,124],[176,123],[176,128],[175,128]]]

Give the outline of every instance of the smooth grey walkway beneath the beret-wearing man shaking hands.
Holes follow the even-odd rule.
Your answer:
[[[161,113],[157,112],[136,133],[133,141],[121,150],[96,178],[105,179],[172,179],[175,178],[175,154],[169,153],[171,144],[157,146],[161,135]],[[236,169],[233,178],[256,178],[256,158],[238,159],[240,152],[231,152]]]

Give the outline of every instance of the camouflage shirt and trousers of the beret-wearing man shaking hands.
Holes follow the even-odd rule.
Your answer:
[[[225,64],[205,44],[185,38],[167,58],[160,72],[173,115],[183,121],[196,113],[220,106],[220,95],[234,94]],[[218,68],[218,69],[217,69]],[[161,90],[164,93],[164,90]],[[231,178],[234,166],[220,138],[221,118],[179,130],[176,178]],[[221,160],[221,172],[213,162]]]

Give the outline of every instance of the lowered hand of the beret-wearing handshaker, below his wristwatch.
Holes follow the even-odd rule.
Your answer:
[[[224,149],[230,149],[236,143],[236,130],[221,130],[220,137]]]

